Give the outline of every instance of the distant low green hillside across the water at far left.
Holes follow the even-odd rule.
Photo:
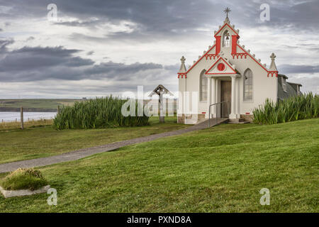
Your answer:
[[[57,109],[59,105],[71,105],[79,99],[0,99],[0,107]]]

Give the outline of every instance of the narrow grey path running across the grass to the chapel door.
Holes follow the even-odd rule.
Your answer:
[[[223,120],[218,118],[218,124],[222,123]],[[216,126],[216,118],[211,119],[211,126]],[[140,138],[134,138],[131,140],[123,140],[119,141],[116,143],[109,143],[106,145],[101,145],[93,148],[84,148],[80,150],[74,150],[69,153],[64,153],[62,155],[55,155],[55,156],[50,156],[50,157],[40,157],[40,158],[35,158],[32,160],[23,160],[23,161],[18,161],[18,162],[9,162],[5,164],[0,165],[0,173],[1,172],[11,172],[19,167],[21,168],[30,168],[30,167],[40,167],[40,166],[45,166],[45,165],[52,165],[55,163],[60,163],[60,162],[68,162],[68,161],[73,161],[73,160],[79,160],[83,157],[87,157],[90,155],[98,154],[98,153],[103,153],[106,151],[111,151],[111,150],[116,150],[118,148],[123,148],[127,145],[132,145],[136,143],[143,143],[151,140],[156,140],[158,138],[164,138],[172,135],[181,135],[183,133],[188,133],[191,131],[198,131],[203,128],[208,128],[208,120],[204,121],[202,123],[199,123],[197,125],[191,126],[189,128],[183,128],[179,129],[177,131],[170,131],[166,133],[158,133],[154,135],[147,135],[145,137],[140,137]]]

